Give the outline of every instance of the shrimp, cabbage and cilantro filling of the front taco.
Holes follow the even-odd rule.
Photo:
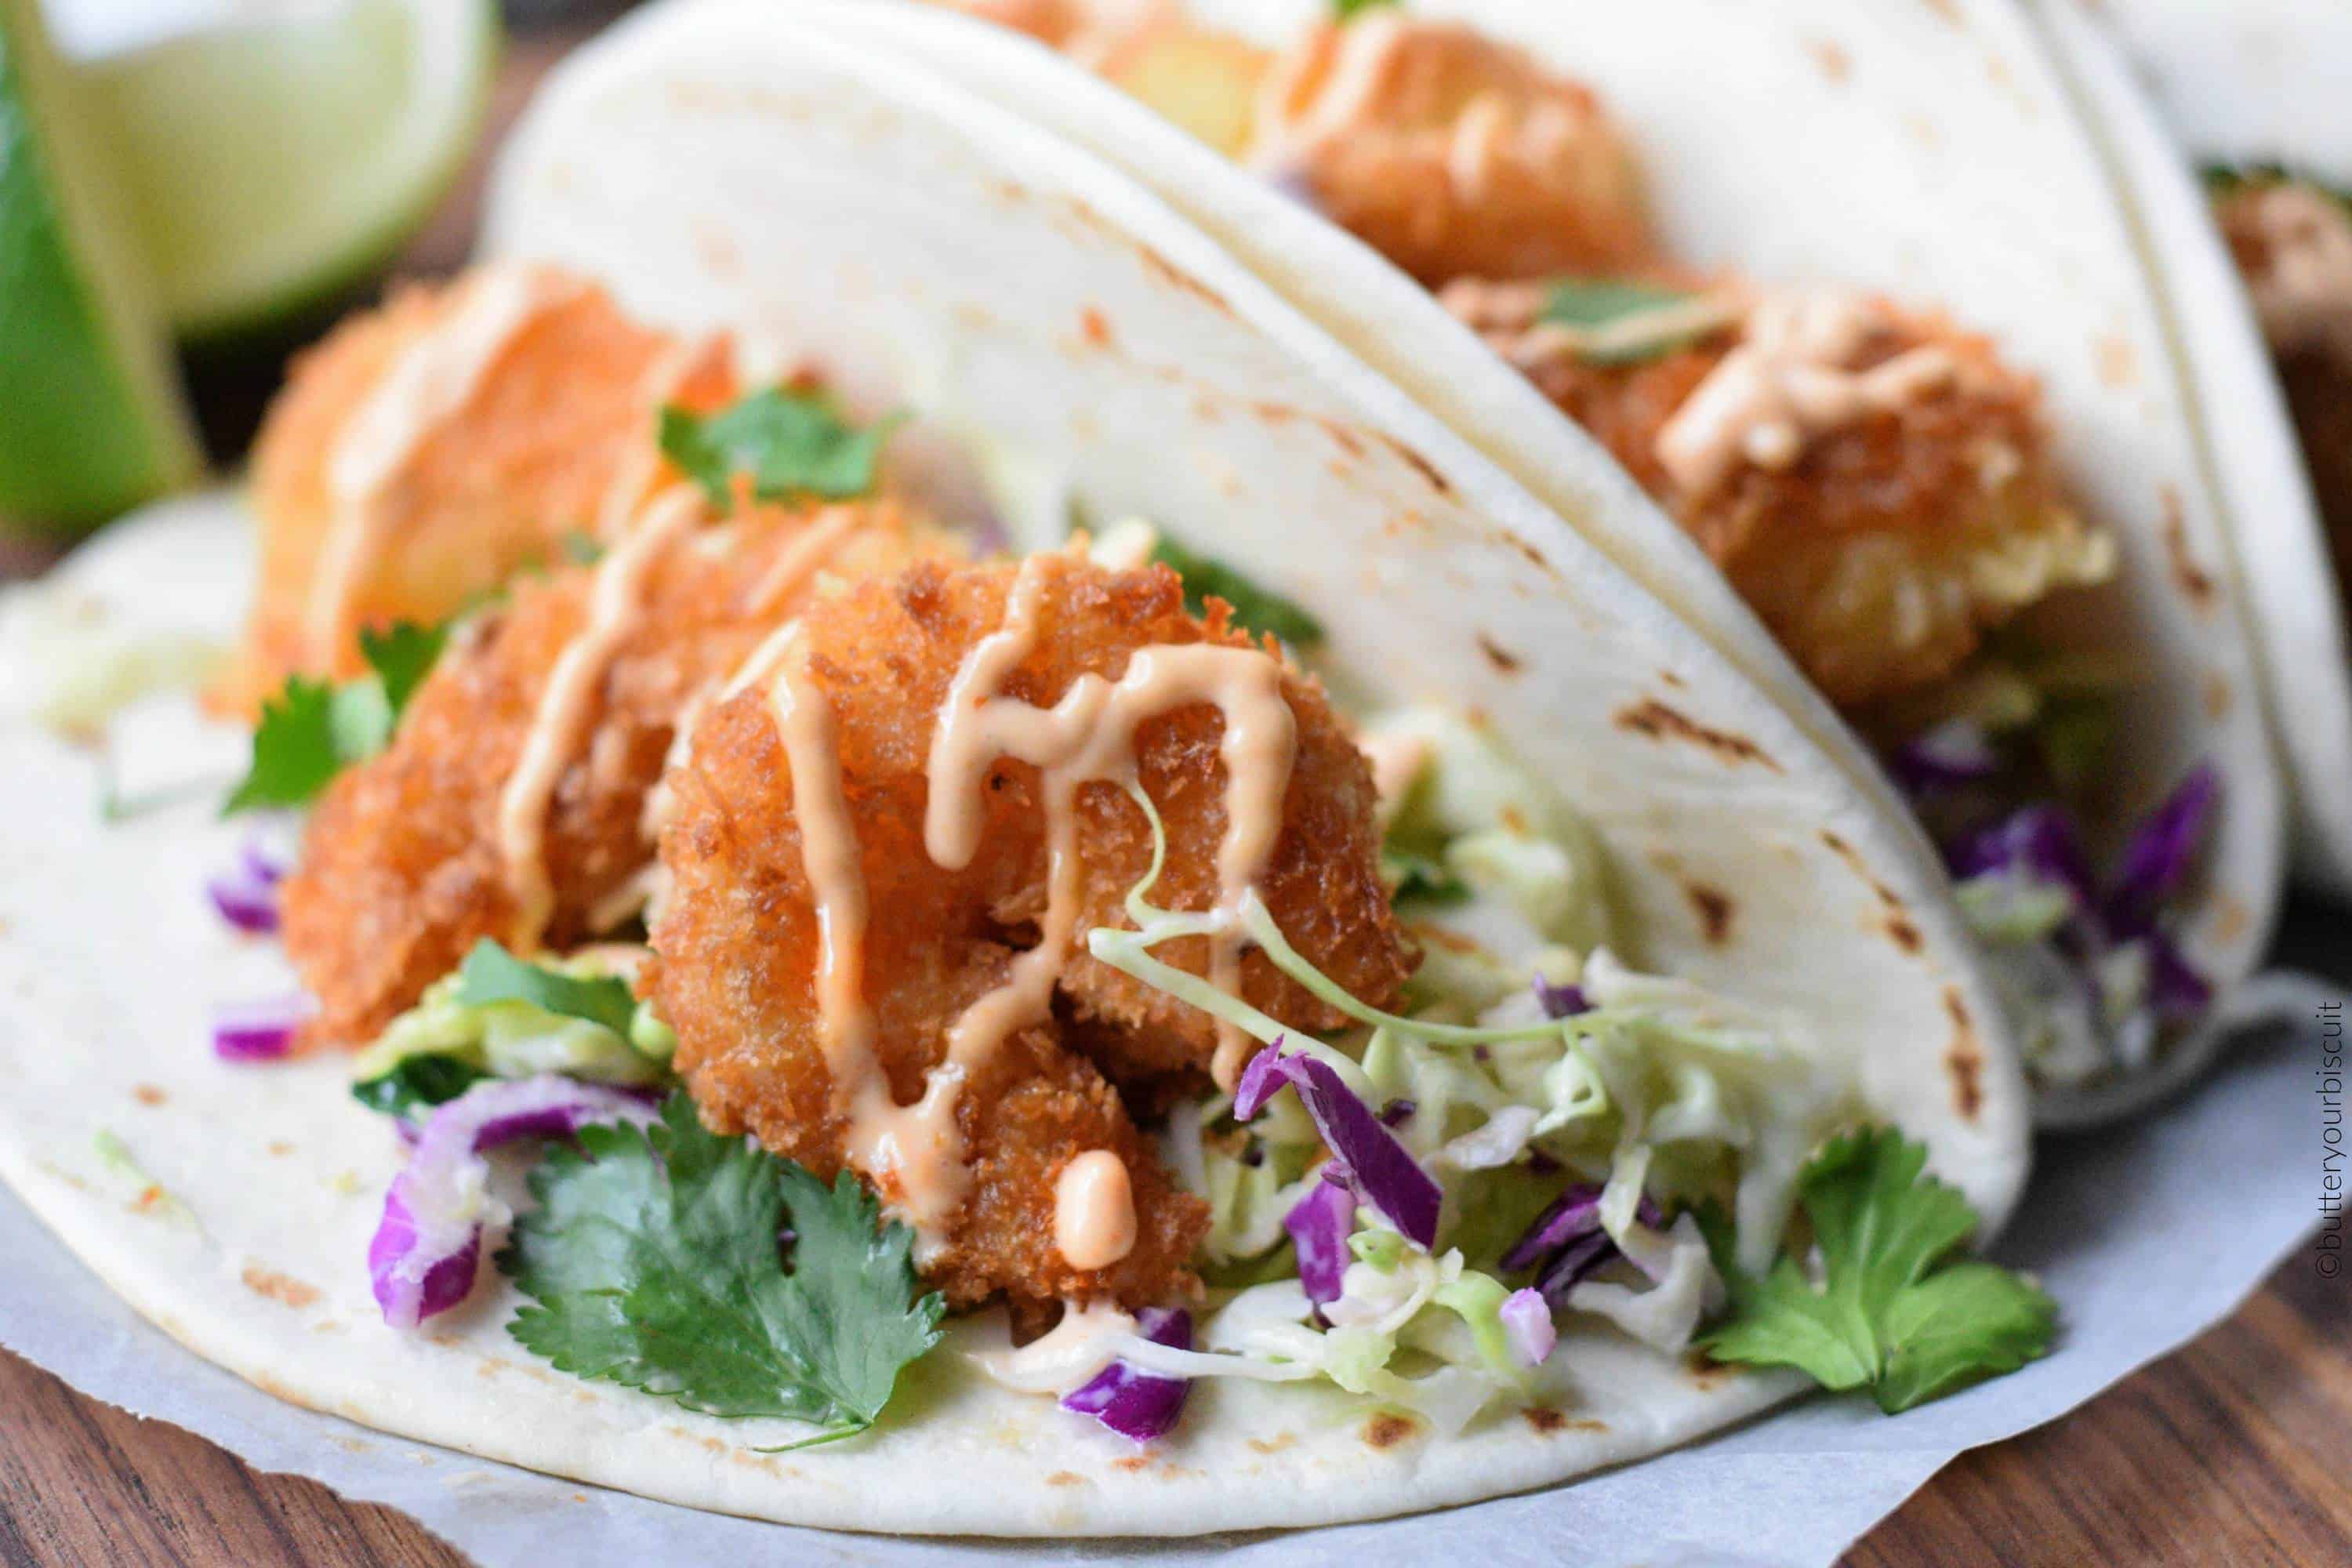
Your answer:
[[[670,383],[572,433],[600,484],[508,470],[553,360],[475,336],[499,287],[346,327],[261,456],[336,468],[383,381],[292,411],[437,315],[379,376],[440,418],[362,447],[325,524],[261,489],[249,658],[292,672],[240,788],[308,809],[249,891],[313,1006],[233,1056],[358,1048],[412,1143],[388,1324],[510,1293],[557,1368],[800,1443],[1000,1307],[948,1328],[976,1375],[1136,1441],[1202,1378],[1458,1432],[1595,1340],[1889,1410],[2039,1354],[2049,1298],[1950,1262],[1973,1215],[1856,1070],[1642,971],[1609,846],[1479,715],[1343,712],[1312,618],[1145,522],[990,555],[814,386]],[[614,317],[630,371],[588,378],[729,362],[649,336]],[[496,571],[379,527],[395,498],[503,520]],[[541,1150],[529,1201],[503,1145]]]

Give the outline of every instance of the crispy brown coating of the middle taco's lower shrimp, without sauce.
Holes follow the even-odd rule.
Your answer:
[[[1740,324],[1653,357],[1592,362],[1543,336],[1545,289],[1458,282],[1444,301],[1665,505],[1849,712],[1950,677],[1985,630],[2114,567],[2112,541],[2065,505],[2039,386],[1985,336],[1860,301],[1877,322],[1844,369],[1936,346],[1957,374],[1811,437],[1785,468],[1740,461],[1726,482],[1691,491],[1658,437],[1743,343]]]

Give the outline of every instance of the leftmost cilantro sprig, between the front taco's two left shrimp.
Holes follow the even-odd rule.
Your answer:
[[[367,675],[339,684],[289,675],[278,696],[261,703],[254,759],[221,816],[306,806],[346,766],[390,745],[400,715],[447,639],[447,625],[400,621],[381,632],[360,632]]]

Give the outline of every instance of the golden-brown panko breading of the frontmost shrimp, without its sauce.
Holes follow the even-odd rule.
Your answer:
[[[1251,646],[1221,611],[1209,623],[1188,616],[1183,588],[1164,567],[1110,571],[1054,555],[1030,569],[1047,574],[1037,637],[995,686],[1007,701],[1051,705],[1082,675],[1117,679],[1136,651],[1155,644]],[[901,1105],[943,1060],[964,1006],[1040,940],[1047,809],[1035,766],[1004,757],[988,766],[969,865],[941,867],[924,849],[934,724],[967,654],[1004,623],[1014,578],[1011,564],[924,564],[863,583],[802,618],[804,670],[833,710],[866,884],[861,990]],[[1282,672],[1279,691],[1296,719],[1296,750],[1279,837],[1254,886],[1310,964],[1383,1004],[1406,978],[1409,957],[1378,877],[1371,771],[1312,679]],[[1136,778],[1167,827],[1167,870],[1152,891],[1162,907],[1202,910],[1218,898],[1223,724],[1218,708],[1195,703],[1134,733]],[[670,898],[652,938],[649,985],[677,1030],[677,1067],[708,1124],[750,1131],[830,1175],[849,1128],[826,1065],[816,992],[823,926],[771,693],[743,691],[715,708],[668,785],[675,806],[661,858]],[[1077,788],[1075,823],[1082,891],[1054,1016],[1002,1046],[978,1072],[983,1081],[967,1081],[955,1100],[976,1180],[931,1267],[955,1302],[997,1293],[1030,1305],[1084,1295],[1164,1300],[1188,1284],[1185,1258],[1207,1222],[1200,1201],[1169,1185],[1101,1077],[1197,1079],[1216,1048],[1204,1013],[1084,954],[1087,929],[1127,924],[1122,900],[1150,867],[1152,835],[1112,783]],[[1197,938],[1160,954],[1192,973],[1207,964]],[[1343,1023],[1261,952],[1242,959],[1240,990],[1303,1030]],[[1073,1269],[1051,1244],[1054,1178],[1089,1147],[1127,1161],[1138,1215],[1134,1251],[1094,1272]]]

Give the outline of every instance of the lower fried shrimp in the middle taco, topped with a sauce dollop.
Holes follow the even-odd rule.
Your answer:
[[[1858,294],[1663,306],[1592,353],[1555,284],[1444,303],[1595,435],[1846,710],[1950,677],[1983,635],[2105,581],[2114,541],[2058,487],[2042,395],[1978,334]],[[1693,308],[1698,306],[1698,308]]]

